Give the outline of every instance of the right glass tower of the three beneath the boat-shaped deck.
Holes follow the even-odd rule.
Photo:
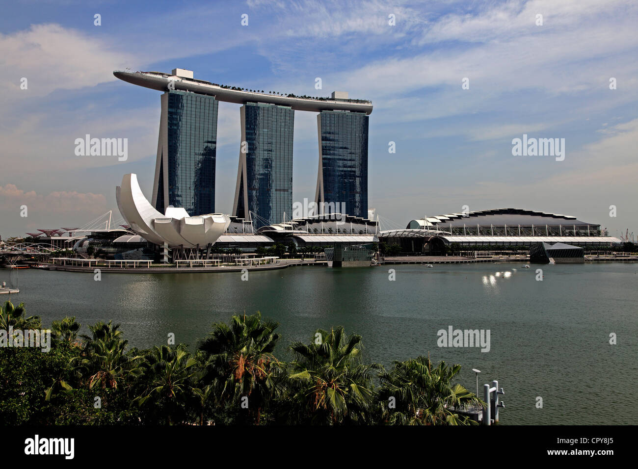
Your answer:
[[[315,202],[322,213],[367,218],[367,134],[362,112],[322,111],[317,115],[319,174]]]

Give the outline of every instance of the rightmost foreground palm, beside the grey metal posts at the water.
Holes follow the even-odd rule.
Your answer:
[[[480,399],[452,378],[461,365],[433,366],[429,357],[395,361],[389,373],[380,375],[379,400],[383,418],[394,425],[470,425],[474,422],[457,413]],[[394,408],[389,401],[394,398]]]

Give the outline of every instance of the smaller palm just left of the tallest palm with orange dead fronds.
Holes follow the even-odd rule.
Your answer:
[[[168,424],[179,421],[180,417],[183,419],[184,404],[193,395],[190,380],[197,360],[191,357],[183,344],[174,349],[166,345],[155,346],[144,359],[144,368],[151,376],[149,389],[135,401],[141,406],[151,396],[156,396],[156,403],[168,411]]]

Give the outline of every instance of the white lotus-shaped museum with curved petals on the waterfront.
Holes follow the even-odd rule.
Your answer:
[[[189,216],[182,208],[168,207],[161,214],[149,203],[137,182],[137,174],[126,174],[115,188],[117,207],[126,223],[138,235],[155,244],[204,248],[214,244],[230,224],[228,215]]]

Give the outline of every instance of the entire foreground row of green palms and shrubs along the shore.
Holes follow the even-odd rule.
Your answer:
[[[40,317],[6,302],[0,329],[9,326],[40,329]],[[49,352],[0,348],[0,424],[454,425],[470,423],[457,409],[480,402],[452,383],[459,365],[418,357],[386,373],[364,362],[362,338],[343,327],[293,342],[285,364],[274,356],[278,326],[259,312],[234,315],[191,353],[182,344],[128,348],[111,322],[78,340],[75,317],[54,321]]]

